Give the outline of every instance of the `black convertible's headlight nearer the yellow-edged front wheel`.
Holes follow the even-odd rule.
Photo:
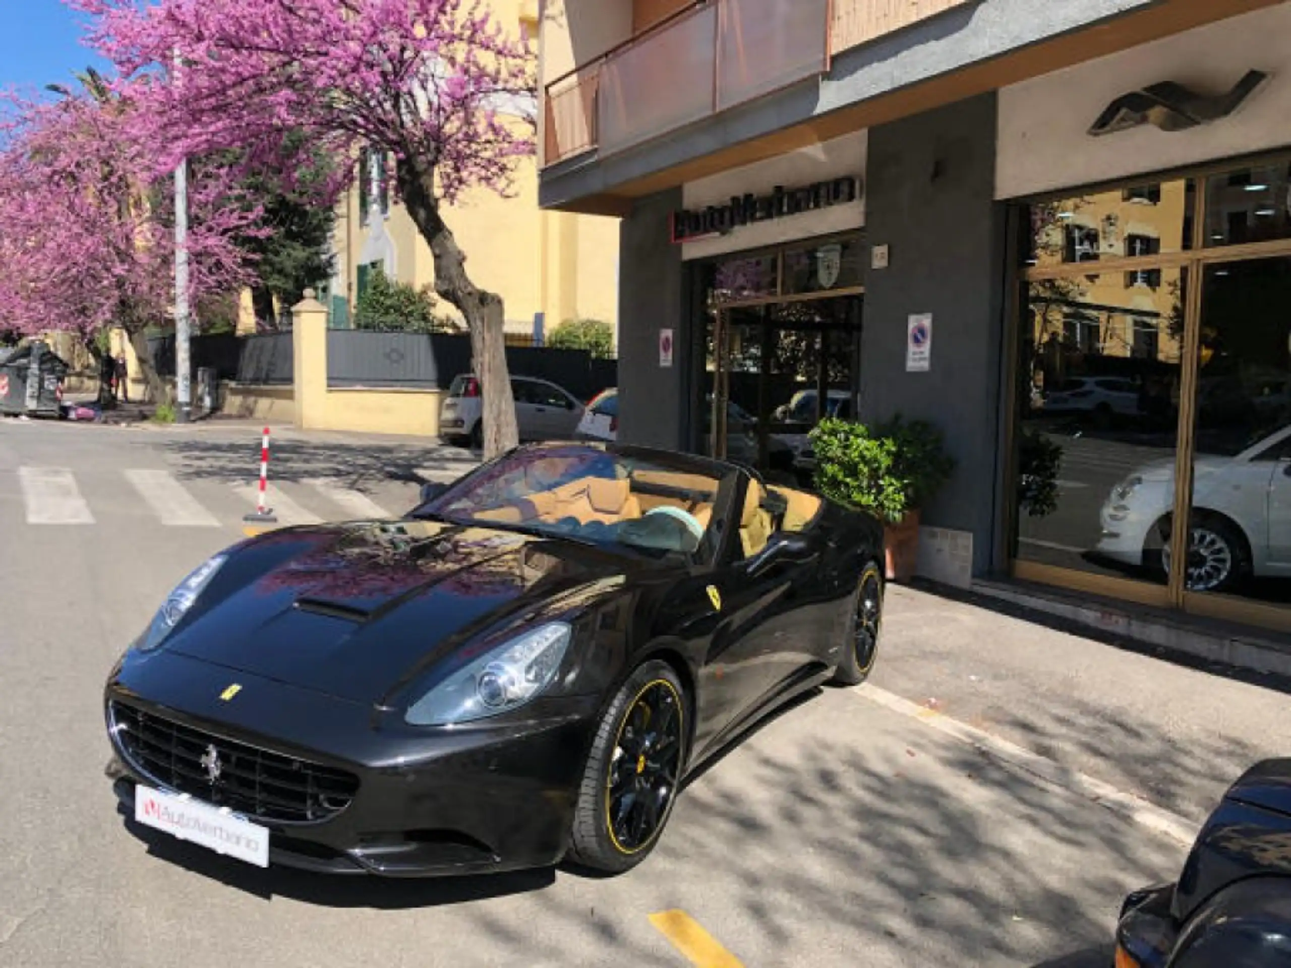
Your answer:
[[[453,672],[408,707],[413,725],[448,725],[523,706],[555,679],[572,629],[551,622],[510,639]]]

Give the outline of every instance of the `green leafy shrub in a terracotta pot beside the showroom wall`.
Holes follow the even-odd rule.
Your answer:
[[[919,516],[954,470],[941,434],[901,414],[866,427],[824,419],[812,431],[816,487],[848,507],[883,521],[887,577],[908,581],[919,550]]]

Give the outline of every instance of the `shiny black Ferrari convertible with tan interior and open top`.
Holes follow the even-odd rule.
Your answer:
[[[112,670],[137,822],[250,863],[622,871],[688,773],[874,663],[882,527],[735,465],[519,448],[204,563]]]

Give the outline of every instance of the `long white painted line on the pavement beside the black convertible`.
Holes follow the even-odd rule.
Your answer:
[[[1081,773],[1079,771],[1055,763],[1051,759],[1046,759],[1044,756],[1032,752],[1017,743],[993,736],[985,729],[979,729],[977,727],[971,727],[967,723],[961,723],[958,719],[951,719],[950,716],[945,716],[936,710],[919,706],[900,696],[879,689],[875,685],[870,685],[869,683],[857,685],[853,692],[870,702],[883,706],[884,709],[900,712],[902,716],[918,719],[924,725],[936,729],[939,733],[949,736],[963,743],[968,743],[980,752],[1011,764],[1033,777],[1052,783],[1053,786],[1066,790],[1068,792],[1083,796],[1093,803],[1103,804],[1104,807],[1128,817],[1135,823],[1161,834],[1175,843],[1183,844],[1184,847],[1192,847],[1193,840],[1197,836],[1197,825],[1186,817],[1181,817],[1177,813],[1171,813],[1162,807],[1157,807],[1141,796],[1135,796],[1117,790],[1110,783],[1095,780],[1086,773]]]

